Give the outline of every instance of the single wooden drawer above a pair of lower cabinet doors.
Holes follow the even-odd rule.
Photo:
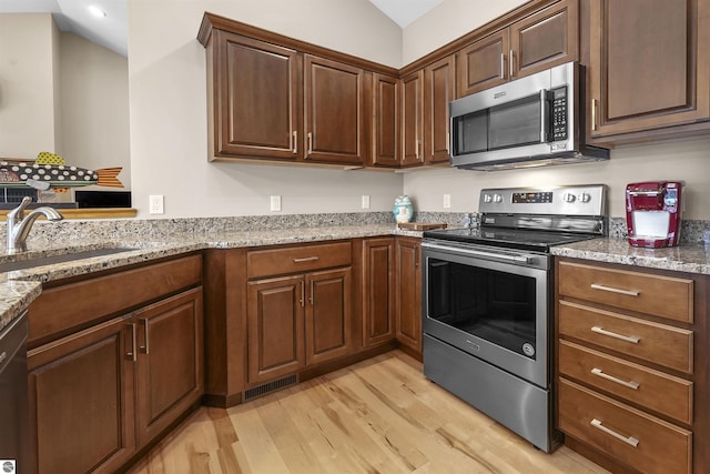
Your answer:
[[[349,265],[351,242],[268,249],[248,252],[247,276],[256,279]]]

